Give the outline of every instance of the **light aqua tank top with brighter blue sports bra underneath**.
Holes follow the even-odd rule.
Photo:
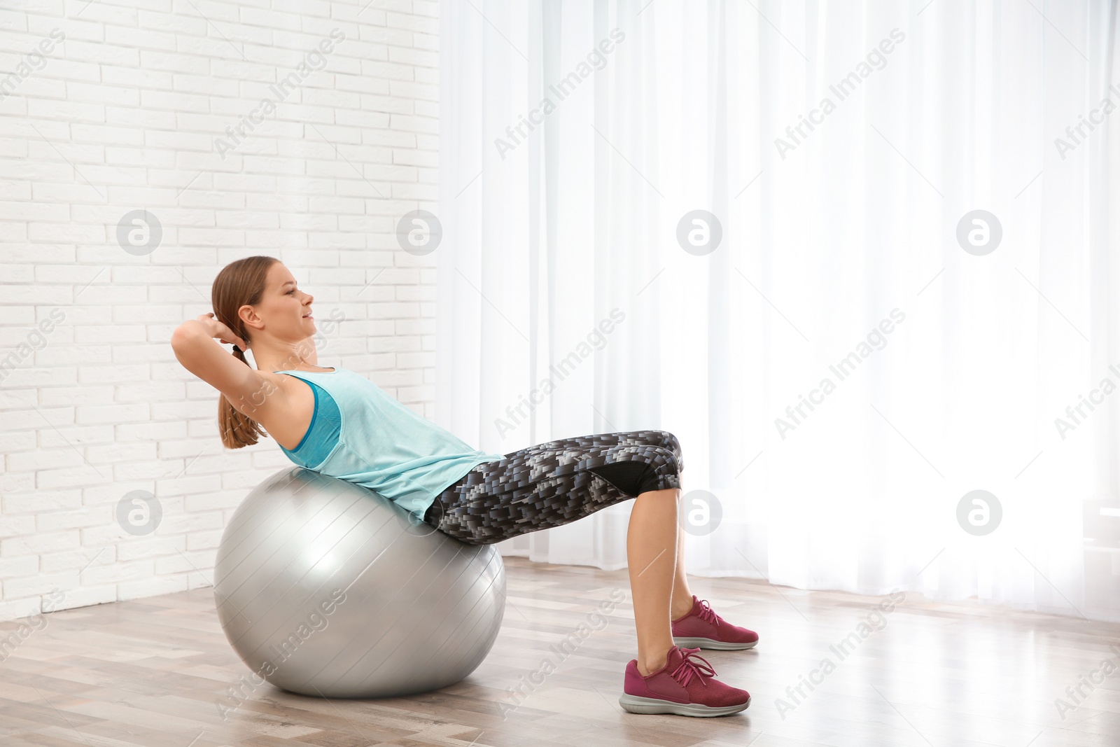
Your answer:
[[[472,449],[348,368],[274,371],[315,393],[311,424],[295,449],[300,467],[376,491],[417,519],[475,466],[505,455]]]

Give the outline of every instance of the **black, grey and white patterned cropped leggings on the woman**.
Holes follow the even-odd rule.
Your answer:
[[[664,430],[592,433],[484,461],[440,493],[424,522],[469,544],[560,526],[646,491],[681,486],[684,463]]]

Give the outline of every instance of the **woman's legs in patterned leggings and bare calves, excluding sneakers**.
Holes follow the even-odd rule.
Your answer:
[[[424,521],[451,536],[489,544],[570,523],[635,497],[626,538],[638,671],[665,664],[671,610],[692,607],[676,521],[680,443],[668,431],[560,439],[483,463],[441,493]],[[680,568],[678,568],[680,566]],[[671,604],[672,603],[672,604]]]

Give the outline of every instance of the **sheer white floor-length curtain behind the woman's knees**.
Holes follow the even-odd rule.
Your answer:
[[[441,424],[672,431],[696,575],[1120,619],[1116,3],[440,24]]]

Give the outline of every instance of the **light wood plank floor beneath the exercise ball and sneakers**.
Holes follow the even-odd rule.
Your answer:
[[[750,708],[635,716],[618,706],[635,655],[626,571],[505,560],[508,605],[488,659],[459,684],[411,698],[325,700],[265,683],[223,719],[216,699],[249,670],[218,627],[212,589],[54,613],[0,662],[0,745],[1120,745],[1117,625],[908,594],[860,628],[884,598],[693,578],[698,596],[759,633],[754,651],[701,652],[750,692]],[[626,600],[606,627],[567,656],[550,648],[616,589]],[[511,695],[545,657],[556,671]]]

